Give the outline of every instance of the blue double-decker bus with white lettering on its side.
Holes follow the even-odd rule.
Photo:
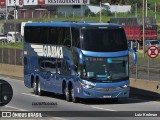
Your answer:
[[[131,51],[135,62],[136,54]],[[129,97],[124,29],[109,23],[26,23],[24,84],[35,94],[63,94],[72,102]]]

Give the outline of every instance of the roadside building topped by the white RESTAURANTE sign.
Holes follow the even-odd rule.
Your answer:
[[[17,19],[59,16],[82,17],[84,6],[90,0],[7,0],[6,6],[14,8]]]

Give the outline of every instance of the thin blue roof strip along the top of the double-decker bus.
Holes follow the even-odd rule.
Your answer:
[[[25,26],[55,26],[55,27],[122,27],[121,25],[114,24],[114,23],[93,23],[93,22],[32,22],[26,23]]]

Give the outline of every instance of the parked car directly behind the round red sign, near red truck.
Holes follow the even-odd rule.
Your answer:
[[[158,41],[158,40],[145,40],[145,50],[146,51],[150,46],[156,46],[160,50],[160,41]]]

